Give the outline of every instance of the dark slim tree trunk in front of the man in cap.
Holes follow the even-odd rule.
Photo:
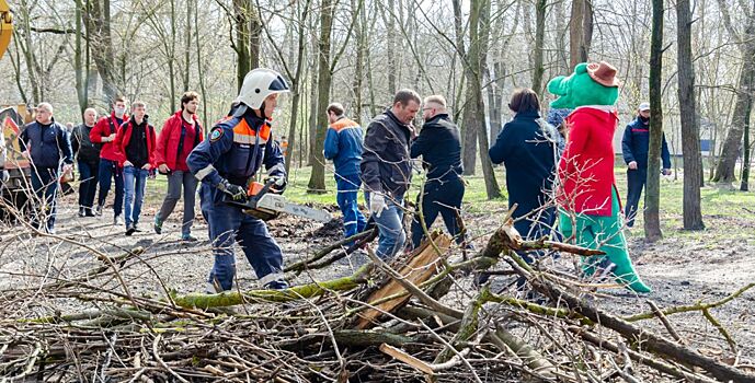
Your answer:
[[[650,148],[648,150],[648,182],[645,187],[644,229],[645,240],[655,242],[663,237],[660,220],[661,141],[663,139],[663,0],[652,0],[653,22],[650,38]]]

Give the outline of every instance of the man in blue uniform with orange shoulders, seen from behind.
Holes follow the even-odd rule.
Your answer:
[[[362,179],[363,132],[359,124],[344,116],[343,105],[332,103],[328,106],[328,132],[325,135],[325,159],[335,166],[335,201],[343,213],[345,237],[362,232],[367,224],[357,204]]]

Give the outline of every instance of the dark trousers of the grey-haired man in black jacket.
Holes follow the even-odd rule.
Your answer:
[[[427,229],[433,225],[435,219],[441,214],[443,222],[448,229],[448,233],[456,237],[457,243],[461,243],[464,239],[459,235],[459,222],[456,219],[457,212],[461,208],[461,199],[464,199],[464,181],[455,178],[451,181],[431,181],[425,184],[422,190],[422,214],[424,216]],[[417,196],[417,206],[420,206],[420,196]],[[419,217],[414,217],[412,221],[412,245],[416,248],[422,242],[424,232]]]

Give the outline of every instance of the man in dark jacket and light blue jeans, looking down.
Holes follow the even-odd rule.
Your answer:
[[[421,102],[416,92],[400,90],[393,96],[393,106],[367,126],[359,167],[369,212],[379,230],[376,253],[384,259],[393,257],[407,241],[402,221],[403,197],[412,179],[409,142]]]

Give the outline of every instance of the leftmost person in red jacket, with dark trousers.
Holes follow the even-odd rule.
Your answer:
[[[115,97],[113,112],[110,116],[102,117],[94,128],[89,132],[89,139],[94,144],[101,144],[100,167],[98,178],[100,179],[100,195],[98,207],[94,212],[102,216],[102,208],[105,206],[107,193],[110,193],[111,179],[115,179],[115,202],[113,204],[113,224],[123,222],[121,212],[123,211],[123,169],[118,167],[118,152],[113,143],[118,128],[124,120],[128,120],[126,114],[126,98]]]

